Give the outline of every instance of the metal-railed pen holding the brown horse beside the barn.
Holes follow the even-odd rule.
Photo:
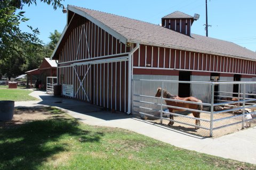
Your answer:
[[[198,90],[179,98],[180,83],[197,86]],[[238,93],[230,90],[235,84]],[[218,137],[256,125],[256,94],[251,93],[255,84],[133,79],[132,114],[187,133]],[[215,92],[216,85],[227,91]]]

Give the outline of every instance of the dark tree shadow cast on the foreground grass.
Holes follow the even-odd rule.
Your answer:
[[[68,141],[83,138],[98,142],[104,134],[84,131],[77,120],[54,118],[36,120],[0,129],[0,169],[38,169],[44,161],[69,151]]]

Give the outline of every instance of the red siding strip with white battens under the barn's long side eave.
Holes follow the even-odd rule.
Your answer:
[[[152,69],[170,68],[252,75],[256,72],[255,61],[143,44],[133,54],[133,67],[150,67]]]

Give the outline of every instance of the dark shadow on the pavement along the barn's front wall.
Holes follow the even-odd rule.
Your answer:
[[[132,117],[124,112],[111,113],[110,111],[104,110],[102,107],[94,106],[93,104],[74,99],[55,97],[52,95],[39,95],[39,97],[42,99],[42,101],[38,104],[59,107],[103,120],[127,119]]]

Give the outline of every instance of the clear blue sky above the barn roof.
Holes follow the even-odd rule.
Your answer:
[[[65,6],[76,5],[87,9],[98,10],[159,24],[161,18],[174,11],[181,11],[194,16],[200,15],[193,23],[191,33],[205,35],[205,0],[66,0]],[[207,0],[209,37],[218,38],[256,51],[256,1],[255,0]],[[21,29],[27,26],[38,28],[39,38],[44,43],[50,41],[50,33],[55,29],[62,33],[66,25],[66,14],[62,9],[53,10],[52,6],[37,2],[37,5],[24,6],[25,16],[30,20],[22,23]]]

